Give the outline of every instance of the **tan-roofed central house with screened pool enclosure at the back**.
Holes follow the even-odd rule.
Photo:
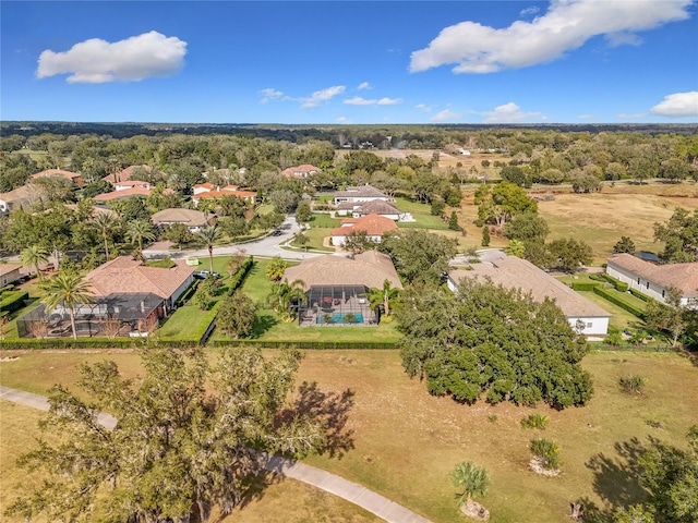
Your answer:
[[[376,325],[381,313],[371,309],[369,289],[382,289],[385,280],[402,289],[390,257],[376,251],[353,258],[328,254],[305,259],[286,269],[284,278],[303,282],[306,302],[298,304],[301,326]]]

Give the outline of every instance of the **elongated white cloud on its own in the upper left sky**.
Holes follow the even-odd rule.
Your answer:
[[[113,44],[91,38],[70,50],[45,50],[39,56],[39,78],[72,73],[69,83],[139,82],[151,76],[169,76],[184,64],[186,42],[152,31]]]

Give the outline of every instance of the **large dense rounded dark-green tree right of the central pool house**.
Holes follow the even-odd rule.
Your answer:
[[[555,409],[591,398],[591,378],[579,366],[587,342],[551,301],[465,279],[456,294],[406,291],[396,316],[402,365],[432,394]]]

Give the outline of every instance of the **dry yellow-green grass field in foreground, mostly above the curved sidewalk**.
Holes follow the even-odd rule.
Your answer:
[[[208,352],[212,357],[217,354]],[[273,355],[274,351],[265,353]],[[363,484],[436,523],[462,521],[448,472],[456,463],[469,460],[484,466],[492,478],[482,502],[490,509],[493,523],[568,521],[569,502],[580,498],[588,499],[587,507],[593,503],[601,509],[639,501],[643,492],[631,473],[635,452],[646,447],[650,437],[684,447],[685,433],[698,423],[698,368],[676,354],[590,354],[582,365],[593,376],[594,398],[586,408],[562,412],[542,405],[522,409],[480,402],[467,406],[431,397],[422,382],[405,376],[396,351],[305,354],[299,384],[316,382],[327,392],[348,390],[353,401],[345,427],[352,448],[341,459],[322,455],[306,462]],[[104,358],[116,360],[128,375],[137,369],[137,357],[129,354],[27,353],[0,363],[0,376],[4,386],[43,393],[55,381],[72,384],[76,374],[71,367],[76,363]],[[627,374],[647,379],[642,394],[621,391],[617,380]],[[0,408],[3,436],[14,436],[2,438],[4,487],[13,477],[16,482],[11,457],[29,447],[32,433],[27,427],[36,417],[32,412],[22,414],[7,428],[7,403],[0,403]],[[550,417],[544,431],[521,428],[520,419],[533,412]],[[492,416],[496,421],[491,421]],[[651,427],[648,421],[660,422],[662,428]],[[561,446],[563,473],[556,478],[543,478],[528,470],[528,442],[539,435]],[[298,519],[285,521],[342,521],[329,513],[323,515],[321,509],[315,519],[310,506],[318,498],[311,494],[309,500],[302,489],[286,483],[280,486],[290,490],[269,490],[260,503],[274,501],[290,514],[306,514],[304,520],[294,515]],[[258,508],[264,510],[262,504]],[[320,519],[323,516],[326,520]],[[264,520],[276,521],[266,515]]]

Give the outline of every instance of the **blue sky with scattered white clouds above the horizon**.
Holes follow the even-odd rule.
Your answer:
[[[0,118],[698,121],[696,0],[3,0]]]

